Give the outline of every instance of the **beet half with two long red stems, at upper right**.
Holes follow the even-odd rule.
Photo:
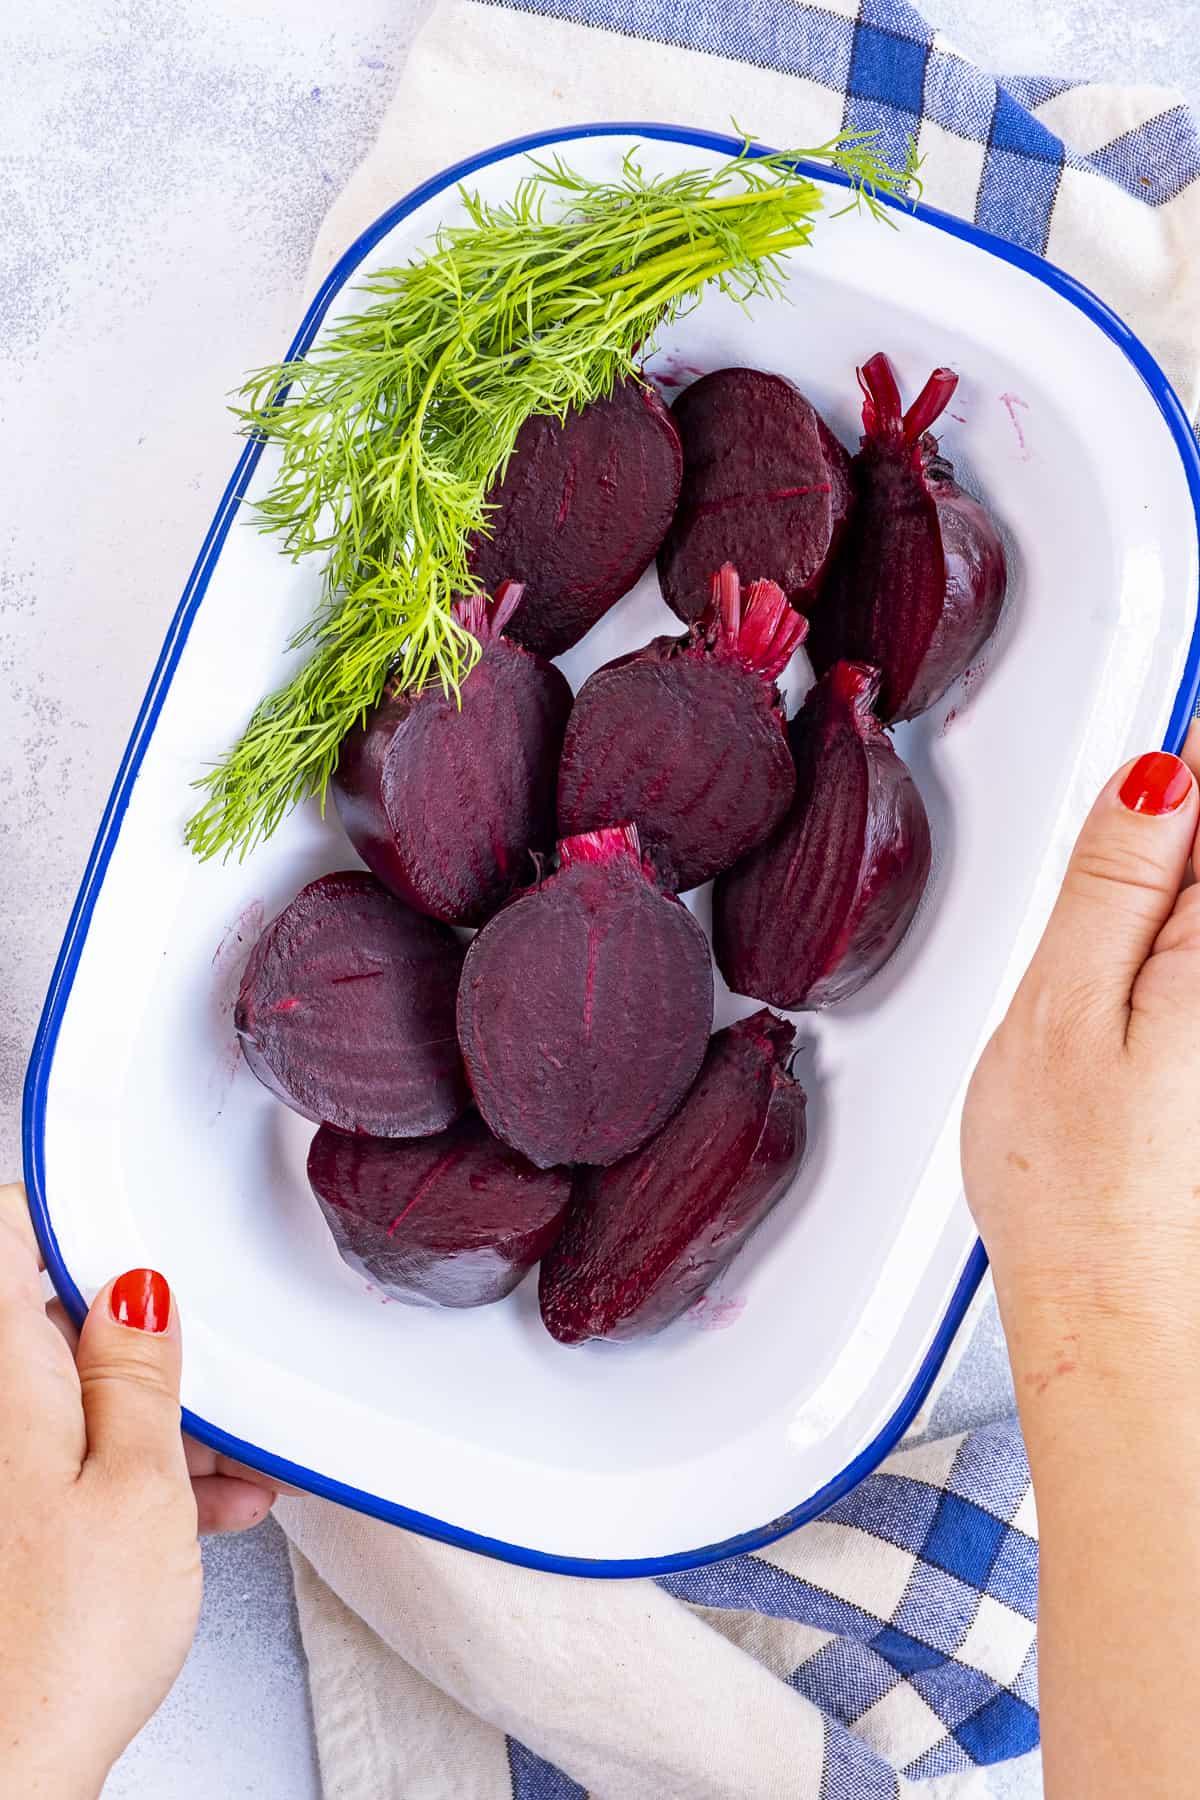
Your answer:
[[[957,374],[934,369],[907,412],[882,353],[858,382],[855,513],[808,652],[817,673],[846,657],[878,668],[889,722],[923,713],[966,670],[1000,617],[1007,571],[995,524],[928,434]]]

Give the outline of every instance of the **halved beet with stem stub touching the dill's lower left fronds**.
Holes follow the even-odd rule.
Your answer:
[[[358,855],[408,905],[482,925],[554,844],[570,684],[507,635],[518,581],[459,601],[480,643],[461,704],[441,686],[385,697],[342,745],[333,797]]]

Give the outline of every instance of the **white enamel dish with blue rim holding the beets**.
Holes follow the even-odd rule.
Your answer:
[[[459,180],[506,196],[545,144],[613,175],[631,142],[651,169],[732,148],[604,126],[477,157],[358,239],[297,347],[356,304],[360,275],[455,216]],[[811,1517],[919,1406],[984,1267],[959,1183],[964,1082],[1097,785],[1177,745],[1193,709],[1200,466],[1166,378],[1096,299],[961,221],[918,211],[896,227],[826,216],[790,263],[792,304],[747,317],[709,295],[651,362],[676,385],[729,364],[781,371],[847,445],[856,362],[887,349],[909,396],[936,364],[959,369],[943,441],[1009,535],[1011,598],[986,668],[898,733],[934,878],[889,968],[801,1021],[795,1190],[714,1292],[640,1345],[558,1346],[533,1280],[468,1314],[383,1303],[308,1193],[311,1127],[241,1066],[230,1008],[252,938],[306,880],[354,864],[315,806],[243,866],[200,866],[182,844],[189,783],[277,684],[318,589],[317,567],[257,533],[243,500],[272,461],[243,454],[117,774],[25,1093],[59,1292],[79,1312],[119,1269],[167,1274],[187,1426],[207,1442],[452,1543],[637,1575]],[[676,628],[651,572],[567,673],[578,684]],[[723,995],[718,1024],[745,1010]]]

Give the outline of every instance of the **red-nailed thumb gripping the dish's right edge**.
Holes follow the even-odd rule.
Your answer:
[[[1025,976],[1060,1017],[1124,1030],[1130,994],[1178,896],[1196,835],[1196,783],[1168,751],[1108,781],[1079,832],[1061,893]]]

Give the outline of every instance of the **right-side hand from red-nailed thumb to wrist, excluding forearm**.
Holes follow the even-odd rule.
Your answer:
[[[963,1125],[1009,1319],[1132,1319],[1180,1355],[1200,1348],[1196,770],[1193,725],[1182,761],[1139,758],[1101,792]]]

